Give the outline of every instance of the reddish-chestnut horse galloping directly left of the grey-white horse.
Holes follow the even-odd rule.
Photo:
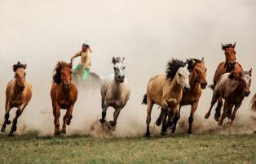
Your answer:
[[[55,117],[55,135],[66,133],[66,124],[72,119],[73,106],[77,101],[77,87],[72,82],[72,63],[58,62],[55,67],[53,84],[51,86],[51,103]],[[63,126],[60,131],[60,109],[67,110],[63,118]]]

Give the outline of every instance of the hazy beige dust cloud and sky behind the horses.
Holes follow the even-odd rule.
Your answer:
[[[18,126],[51,134],[52,70],[57,61],[69,61],[81,49],[82,42],[88,40],[93,50],[91,71],[100,76],[113,72],[113,55],[126,57],[126,77],[132,93],[121,111],[116,133],[140,135],[145,132],[146,120],[146,106],[141,101],[151,76],[164,73],[170,58],[205,57],[207,80],[211,84],[218,63],[225,58],[220,43],[237,41],[237,61],[245,70],[253,68],[253,82],[252,93],[238,110],[236,123],[249,127],[255,123],[248,123],[249,99],[256,84],[255,15],[254,0],[0,0],[0,122],[5,88],[14,75],[12,65],[21,61],[28,64],[27,80],[33,84],[33,98]],[[203,119],[211,93],[209,88],[203,92],[196,110],[195,122],[205,125],[201,129],[206,132],[209,126],[217,127],[212,119],[214,113],[210,120]],[[155,109],[152,126],[159,112]],[[108,118],[112,119],[113,110],[109,111]],[[188,113],[189,108],[183,108],[183,122],[188,122]],[[95,88],[95,93],[80,92],[67,131],[89,133],[91,123],[99,120],[100,114],[99,88]]]

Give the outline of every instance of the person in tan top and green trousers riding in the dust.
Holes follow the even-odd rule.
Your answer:
[[[76,54],[73,54],[73,56],[70,58],[71,62],[73,62],[73,58],[77,58],[78,56],[81,56],[81,62],[73,69],[73,73],[76,74],[77,71],[82,71],[82,79],[83,80],[90,80],[89,74],[90,74],[90,45],[86,41],[82,44],[82,50],[77,52]]]

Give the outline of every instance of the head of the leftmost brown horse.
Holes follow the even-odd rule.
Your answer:
[[[15,84],[18,86],[20,91],[24,90],[24,82],[26,77],[26,69],[27,65],[22,64],[20,62],[13,65],[13,71],[15,72]]]

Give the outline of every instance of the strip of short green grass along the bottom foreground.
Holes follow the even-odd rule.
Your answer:
[[[256,135],[0,136],[0,163],[256,163]]]

